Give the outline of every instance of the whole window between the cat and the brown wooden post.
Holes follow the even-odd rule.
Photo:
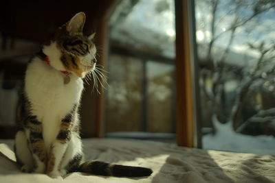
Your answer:
[[[120,1],[111,14],[107,136],[175,138],[174,19],[173,0]]]

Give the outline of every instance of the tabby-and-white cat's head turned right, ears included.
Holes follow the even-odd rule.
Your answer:
[[[55,69],[69,71],[85,77],[96,66],[94,34],[83,34],[85,14],[79,12],[65,25],[58,27],[50,45],[43,47]]]

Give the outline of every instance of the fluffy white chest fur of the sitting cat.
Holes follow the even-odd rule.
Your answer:
[[[83,81],[71,74],[69,83],[64,84],[65,77],[65,74],[49,69],[41,62],[28,66],[25,92],[39,118],[44,119],[49,114],[63,117],[79,102]]]

